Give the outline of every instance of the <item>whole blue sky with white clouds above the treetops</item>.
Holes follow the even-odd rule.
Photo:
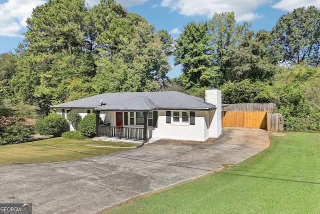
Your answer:
[[[21,33],[26,31],[25,20],[32,9],[46,0],[0,0],[0,53],[14,52]],[[93,6],[99,0],[86,0]],[[270,31],[281,15],[295,8],[311,5],[320,9],[319,0],[117,0],[129,13],[137,13],[157,30],[166,30],[171,37],[178,38],[183,26],[191,21],[207,21],[214,13],[233,11],[236,21],[251,22],[251,30]],[[180,74],[172,68],[170,78]]]

